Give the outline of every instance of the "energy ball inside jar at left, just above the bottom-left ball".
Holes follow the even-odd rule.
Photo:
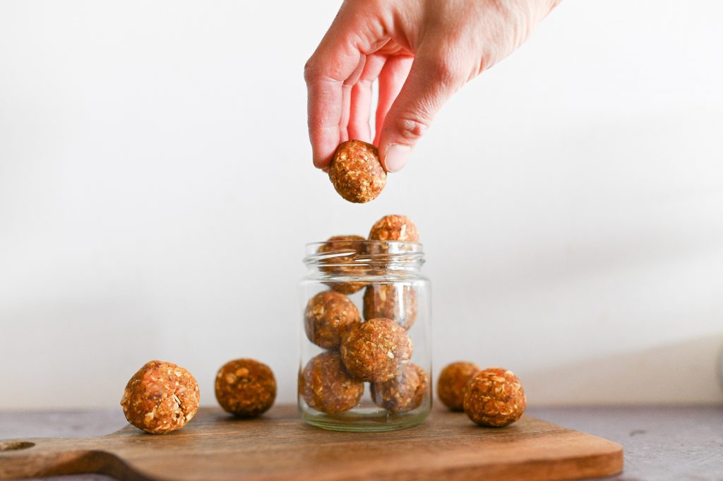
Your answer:
[[[325,349],[336,349],[352,325],[360,323],[354,302],[335,291],[323,291],[309,299],[304,328],[309,341]]]

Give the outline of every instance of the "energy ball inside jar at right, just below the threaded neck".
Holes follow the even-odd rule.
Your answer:
[[[364,291],[364,319],[395,320],[406,330],[416,320],[416,292],[403,284],[377,284]]]

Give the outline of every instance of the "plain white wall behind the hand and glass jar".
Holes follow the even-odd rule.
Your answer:
[[[531,404],[721,402],[723,5],[566,1],[382,196],[312,168],[335,1],[0,2],[0,408],[115,405],[152,358],[294,399],[305,242],[422,232],[436,371]]]

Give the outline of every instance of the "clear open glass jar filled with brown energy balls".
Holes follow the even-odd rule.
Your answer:
[[[310,425],[386,431],[432,409],[431,292],[422,244],[307,244],[299,410]]]

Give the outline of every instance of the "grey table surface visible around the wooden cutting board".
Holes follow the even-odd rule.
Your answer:
[[[723,481],[723,406],[531,407],[527,414],[614,440],[625,448],[615,481]],[[120,409],[0,412],[0,439],[92,436],[126,425]],[[98,474],[46,477],[112,481]]]

